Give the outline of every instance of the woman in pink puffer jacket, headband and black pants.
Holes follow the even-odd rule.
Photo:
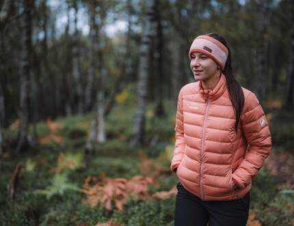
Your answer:
[[[198,81],[178,95],[175,225],[246,225],[252,178],[271,152],[263,108],[233,76],[222,36],[198,36],[189,58]]]

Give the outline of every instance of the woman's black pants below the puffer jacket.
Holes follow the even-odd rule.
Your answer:
[[[202,201],[187,191],[181,182],[176,185],[175,226],[245,226],[248,220],[250,192],[241,199]]]

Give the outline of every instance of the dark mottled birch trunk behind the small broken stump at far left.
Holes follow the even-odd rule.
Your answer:
[[[30,52],[31,52],[31,10],[33,0],[23,0],[23,18],[21,18],[21,123],[18,131],[18,143],[16,153],[29,145],[29,73],[30,73]]]

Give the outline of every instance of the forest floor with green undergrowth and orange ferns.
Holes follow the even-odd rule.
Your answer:
[[[107,142],[91,155],[83,147],[92,114],[31,127],[40,145],[0,158],[1,225],[173,225],[174,115],[158,119],[148,110],[146,117],[149,145],[131,148],[133,111],[115,108],[107,117]],[[15,133],[12,126],[5,136]],[[273,147],[254,177],[248,226],[294,225],[292,153]],[[17,164],[23,168],[12,199],[8,184]]]

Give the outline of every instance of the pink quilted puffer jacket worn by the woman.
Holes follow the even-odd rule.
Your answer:
[[[245,103],[237,134],[223,74],[213,90],[203,90],[198,81],[183,86],[178,95],[170,168],[181,184],[203,201],[243,197],[271,152],[263,108],[253,92],[242,89]],[[233,190],[233,181],[239,188]]]

